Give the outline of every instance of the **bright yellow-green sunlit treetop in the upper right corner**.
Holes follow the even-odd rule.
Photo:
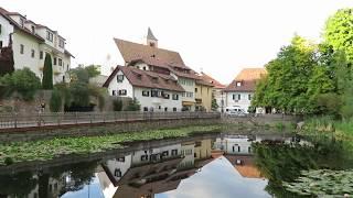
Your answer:
[[[343,51],[353,62],[353,9],[341,9],[325,23],[323,37],[334,51]]]

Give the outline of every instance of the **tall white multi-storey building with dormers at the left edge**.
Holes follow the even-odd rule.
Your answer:
[[[53,64],[53,82],[68,81],[73,56],[65,50],[65,42],[56,31],[0,8],[0,48],[12,48],[14,69],[28,67],[42,79],[45,55],[49,54]]]

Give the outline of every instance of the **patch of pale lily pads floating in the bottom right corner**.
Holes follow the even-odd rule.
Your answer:
[[[285,183],[287,190],[304,196],[343,197],[353,193],[352,170],[302,170],[301,176],[292,183]]]

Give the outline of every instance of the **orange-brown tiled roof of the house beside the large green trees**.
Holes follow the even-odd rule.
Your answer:
[[[245,68],[224,89],[224,91],[255,91],[257,80],[266,74],[267,72],[265,68]],[[242,85],[238,87],[237,82],[240,82]]]

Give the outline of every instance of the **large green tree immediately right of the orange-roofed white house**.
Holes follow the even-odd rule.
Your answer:
[[[315,45],[296,35],[291,44],[282,47],[277,58],[266,65],[268,76],[258,82],[253,106],[307,112],[308,81],[317,64],[314,50]]]

